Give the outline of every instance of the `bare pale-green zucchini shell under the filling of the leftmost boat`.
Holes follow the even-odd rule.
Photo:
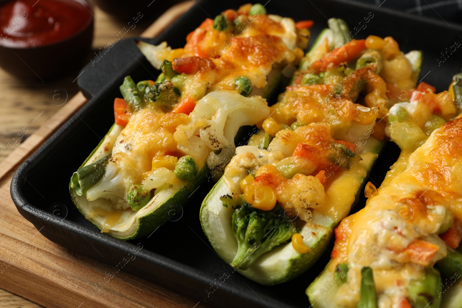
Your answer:
[[[79,169],[109,155],[122,129],[122,126],[114,124]],[[180,210],[180,205],[207,179],[209,172],[210,169],[205,163],[193,180],[188,181],[176,192],[168,189],[161,190],[140,211],[114,211],[110,201],[103,198],[88,201],[85,194],[82,196],[77,194],[72,181],[69,184],[69,192],[77,209],[98,229],[121,240],[130,240],[151,233],[158,226],[171,219],[170,213],[176,213]],[[95,207],[100,210],[93,210]],[[110,213],[111,211],[113,213]],[[96,215],[101,212],[103,214],[107,212],[107,216]],[[124,223],[114,226],[121,218]]]

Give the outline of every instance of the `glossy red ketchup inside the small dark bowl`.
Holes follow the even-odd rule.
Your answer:
[[[61,41],[90,22],[83,0],[17,0],[0,7],[0,45],[36,47]]]

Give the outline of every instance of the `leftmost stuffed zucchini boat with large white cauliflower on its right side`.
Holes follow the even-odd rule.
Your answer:
[[[124,79],[116,123],[72,176],[79,211],[123,240],[165,223],[210,169],[229,161],[239,128],[269,115],[261,95],[277,91],[278,76],[298,65],[309,33],[245,5],[207,18],[184,48],[139,42],[162,73],[156,81]]]

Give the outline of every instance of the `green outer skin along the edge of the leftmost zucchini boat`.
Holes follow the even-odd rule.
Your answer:
[[[85,161],[80,165],[79,169],[84,167],[89,159],[93,157],[93,155],[103,147],[103,144],[106,141],[106,137],[111,133],[114,129],[115,124],[109,129],[108,133],[104,136],[104,138],[99,142],[99,144],[91,151],[90,155],[85,159]],[[109,230],[108,234],[114,236],[118,239],[127,241],[134,238],[138,238],[141,236],[146,236],[150,234],[152,231],[157,229],[159,226],[166,223],[172,216],[169,214],[171,211],[175,211],[176,213],[180,211],[180,208],[186,204],[188,197],[195,192],[196,188],[199,187],[202,183],[207,180],[209,176],[210,169],[207,167],[207,163],[204,164],[199,173],[195,176],[195,178],[191,181],[188,181],[186,185],[180,188],[176,193],[172,194],[167,200],[165,200],[162,204],[156,206],[153,211],[150,211],[146,215],[142,217],[138,217],[136,219],[136,229],[132,234],[128,234],[127,236],[116,236],[111,234]],[[69,193],[71,195],[71,199],[73,204],[77,207],[79,212],[91,223],[93,223],[98,229],[101,229],[97,223],[92,221],[90,217],[88,217],[87,213],[85,213],[81,207],[79,206],[79,202],[76,200],[76,191],[73,187],[72,181],[69,183]],[[90,201],[88,201],[90,202]],[[147,206],[147,205],[146,205]]]

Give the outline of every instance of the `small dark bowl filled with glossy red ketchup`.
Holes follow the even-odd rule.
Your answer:
[[[41,81],[76,73],[90,59],[92,12],[88,0],[3,2],[0,66],[19,78]]]

